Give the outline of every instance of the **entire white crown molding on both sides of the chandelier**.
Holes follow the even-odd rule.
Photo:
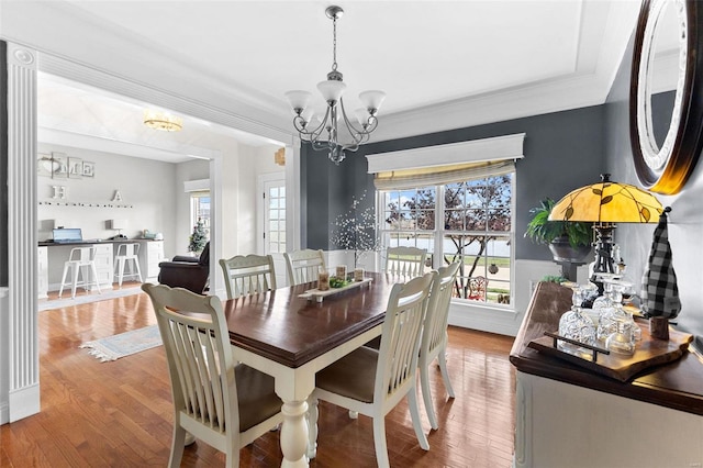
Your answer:
[[[632,1],[613,1],[607,7],[583,2],[581,27],[574,32],[580,46],[569,73],[381,114],[371,140],[394,140],[602,104],[627,46],[628,37],[624,40],[617,31],[634,31],[638,8],[638,2]],[[205,74],[193,64],[180,62],[172,51],[122,26],[104,24],[81,8],[60,1],[3,2],[2,10],[8,20],[0,23],[0,36],[38,51],[41,71],[272,142],[293,142],[290,110],[282,99],[232,82],[216,73]],[[592,27],[594,24],[596,27]],[[86,37],[90,37],[90,47],[86,46]],[[582,48],[599,40],[600,54]],[[62,55],[64,51],[71,51],[72,56]]]

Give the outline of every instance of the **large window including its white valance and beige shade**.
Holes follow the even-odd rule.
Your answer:
[[[455,297],[510,304],[515,160],[524,133],[368,154],[382,247],[426,248],[426,269],[459,260]]]

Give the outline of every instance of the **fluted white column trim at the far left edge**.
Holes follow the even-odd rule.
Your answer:
[[[36,300],[37,54],[8,43],[9,419],[40,411]],[[5,338],[5,337],[3,337]],[[7,342],[7,343],[8,343]]]

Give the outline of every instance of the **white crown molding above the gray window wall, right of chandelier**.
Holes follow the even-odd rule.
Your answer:
[[[638,2],[615,1],[609,5],[607,18],[600,32],[581,27],[580,44],[593,40],[584,37],[585,32],[591,35],[601,34],[600,54],[589,56],[580,49],[573,73],[382,115],[379,118],[378,129],[371,135],[371,142],[603,104],[629,42],[629,35],[624,37],[617,31],[634,32],[638,12]],[[587,3],[581,22],[594,21],[602,22],[602,18]]]

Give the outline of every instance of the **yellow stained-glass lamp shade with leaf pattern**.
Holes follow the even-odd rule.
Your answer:
[[[613,182],[610,175],[600,183],[581,187],[559,200],[549,221],[594,223],[656,223],[663,207],[651,193],[628,183]]]

